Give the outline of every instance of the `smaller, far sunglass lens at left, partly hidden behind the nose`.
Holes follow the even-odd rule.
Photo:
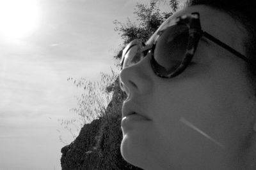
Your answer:
[[[143,58],[141,48],[139,45],[132,46],[127,53],[125,53],[123,68],[132,66]]]

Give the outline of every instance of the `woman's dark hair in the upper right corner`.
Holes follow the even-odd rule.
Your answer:
[[[235,20],[244,25],[248,36],[244,41],[245,54],[250,60],[248,76],[256,82],[256,1],[255,0],[186,0],[185,6],[204,4],[216,10],[228,13]],[[256,88],[256,87],[255,87]],[[256,92],[256,89],[255,89]]]

